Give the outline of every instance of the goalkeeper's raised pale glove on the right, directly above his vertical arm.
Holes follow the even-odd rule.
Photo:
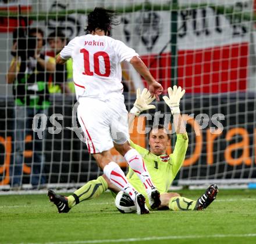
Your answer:
[[[177,88],[177,86],[173,86],[173,90],[172,88],[168,88],[169,97],[164,96],[163,100],[170,107],[172,114],[180,114],[180,99],[182,99],[185,92],[186,91],[182,90],[180,86],[179,88]]]

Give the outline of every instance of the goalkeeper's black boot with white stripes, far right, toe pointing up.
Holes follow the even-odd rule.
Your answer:
[[[197,199],[194,210],[205,210],[214,201],[218,191],[217,185],[210,185],[205,193]]]

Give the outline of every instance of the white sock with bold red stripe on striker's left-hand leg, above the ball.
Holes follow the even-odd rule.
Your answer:
[[[129,194],[131,199],[135,201],[135,190],[126,179],[125,173],[123,173],[123,170],[117,163],[108,163],[108,165],[104,167],[103,172],[105,176],[108,177],[108,179],[111,181],[111,183],[116,185],[116,187],[118,187],[126,194]]]

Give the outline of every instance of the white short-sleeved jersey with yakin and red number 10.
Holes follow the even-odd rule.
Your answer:
[[[123,92],[120,63],[138,56],[125,43],[105,35],[83,35],[72,39],[61,51],[62,59],[73,59],[73,80],[79,97],[107,99]]]

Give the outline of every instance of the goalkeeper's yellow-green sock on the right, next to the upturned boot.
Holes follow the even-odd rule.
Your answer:
[[[182,196],[175,196],[169,200],[168,206],[169,209],[173,211],[194,210],[195,203],[197,203],[197,201],[183,198]]]

